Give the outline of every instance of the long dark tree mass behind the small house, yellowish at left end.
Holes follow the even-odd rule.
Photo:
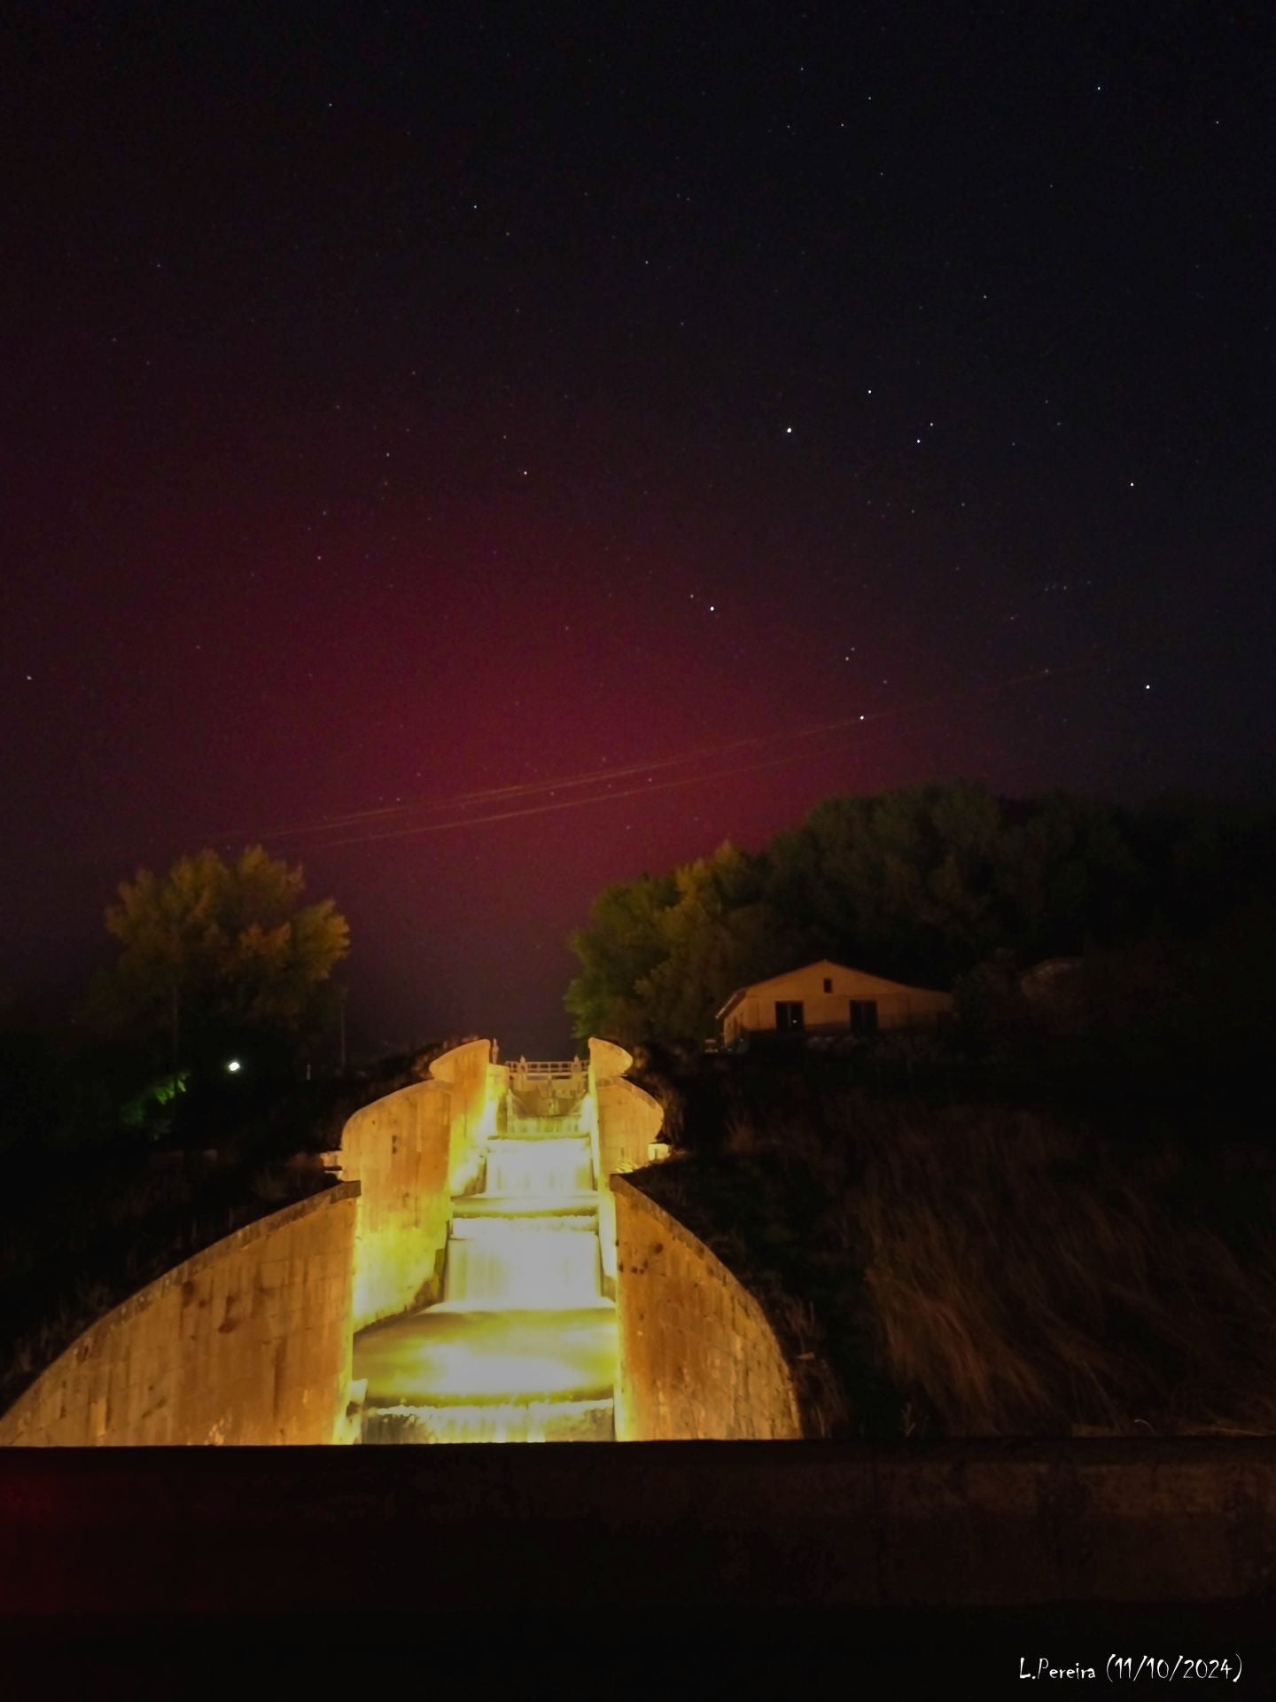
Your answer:
[[[580,1038],[698,1040],[735,987],[817,957],[948,987],[997,955],[1188,938],[1269,878],[1271,820],[1242,814],[975,783],[825,798],[757,854],[609,887],[572,936],[567,1009]]]

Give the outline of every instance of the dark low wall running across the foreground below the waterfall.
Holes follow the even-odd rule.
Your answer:
[[[1269,1631],[1276,1576],[1273,1438],[0,1450],[0,1615],[119,1612],[128,1624],[177,1608],[211,1627],[269,1603],[313,1625],[318,1591],[378,1625],[391,1608],[413,1625],[470,1608],[490,1634],[498,1579],[505,1612],[623,1613],[655,1588],[674,1622],[679,1608],[735,1603],[1249,1598]],[[977,1668],[970,1692],[1000,1693],[987,1673],[1014,1680],[1019,1653],[1072,1654],[1058,1622],[1040,1629],[1017,1648],[1002,1625],[1002,1665]],[[1147,1653],[1136,1631],[1114,1619],[1104,1653]],[[941,1646],[944,1682],[893,1693],[960,1693],[943,1634]],[[1225,1644],[1188,1649],[1222,1656]],[[48,1632],[43,1658],[48,1671]],[[1261,1671],[1239,1693],[1271,1693]]]

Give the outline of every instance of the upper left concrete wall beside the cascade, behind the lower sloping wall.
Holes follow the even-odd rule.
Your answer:
[[[340,1173],[357,1181],[354,1328],[439,1299],[453,1195],[475,1179],[498,1067],[487,1040],[444,1052],[430,1079],[374,1099],[347,1122]]]

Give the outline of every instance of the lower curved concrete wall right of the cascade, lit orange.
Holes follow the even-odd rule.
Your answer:
[[[621,1176],[619,1442],[801,1436],[798,1394],[759,1302],[703,1241]]]

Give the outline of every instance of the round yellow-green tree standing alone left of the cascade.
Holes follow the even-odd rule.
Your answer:
[[[303,904],[305,873],[250,846],[140,870],[119,887],[105,926],[121,945],[90,997],[109,1033],[162,1037],[177,1060],[240,1037],[282,1040],[320,1026],[330,977],[349,951],[332,899]]]

